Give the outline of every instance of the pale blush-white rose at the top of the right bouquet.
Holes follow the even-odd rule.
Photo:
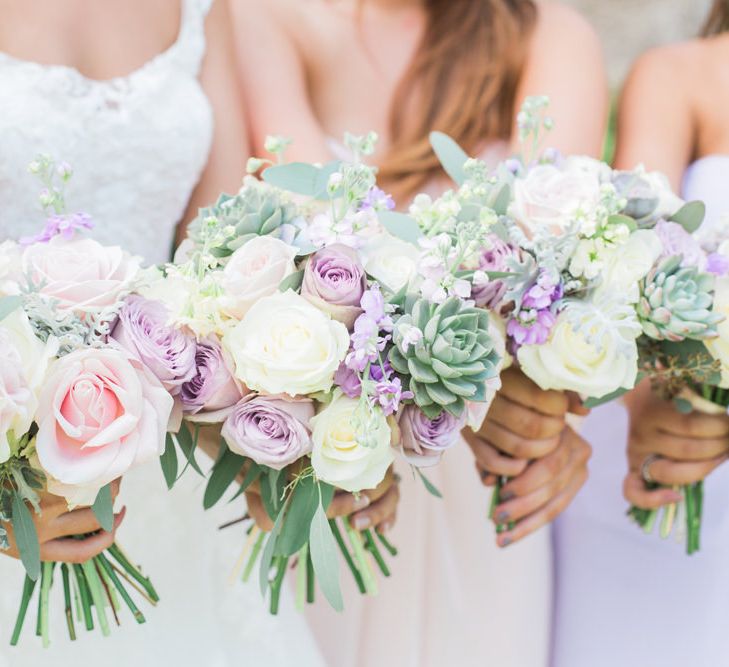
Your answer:
[[[546,227],[559,234],[581,217],[590,217],[600,201],[600,177],[581,163],[560,169],[537,165],[514,181],[510,213],[527,230]]]

